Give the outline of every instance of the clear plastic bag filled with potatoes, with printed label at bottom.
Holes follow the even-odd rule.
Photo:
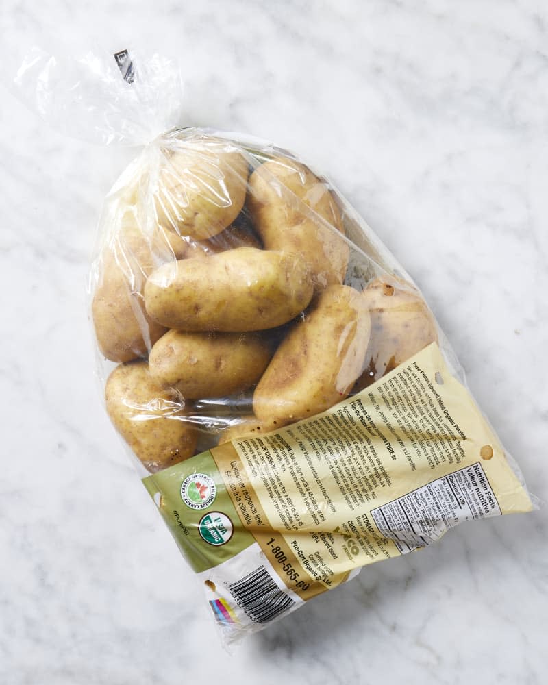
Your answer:
[[[134,117],[101,140],[177,84],[129,59],[105,70]],[[225,641],[461,521],[530,510],[421,292],[338,190],[173,123],[105,199],[91,316],[110,419]]]

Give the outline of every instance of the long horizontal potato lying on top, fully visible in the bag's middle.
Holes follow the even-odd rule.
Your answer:
[[[240,247],[156,269],[145,306],[160,325],[186,331],[259,331],[297,316],[312,298],[305,264],[290,253]]]

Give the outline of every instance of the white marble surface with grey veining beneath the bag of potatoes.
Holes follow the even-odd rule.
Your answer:
[[[423,288],[547,499],[548,8],[540,0],[3,0],[5,71],[40,34],[185,67],[187,121],[325,169]],[[85,34],[84,34],[85,32]],[[547,514],[453,530],[217,645],[92,375],[86,269],[127,149],[0,108],[0,682],[544,684]]]

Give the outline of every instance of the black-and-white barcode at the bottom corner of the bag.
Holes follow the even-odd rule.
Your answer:
[[[254,623],[272,621],[295,604],[289,595],[279,589],[264,566],[259,566],[227,587],[238,606]]]

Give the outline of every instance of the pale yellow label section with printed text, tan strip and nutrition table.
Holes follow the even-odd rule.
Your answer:
[[[212,456],[242,525],[303,599],[461,521],[532,508],[436,343],[327,412]]]

